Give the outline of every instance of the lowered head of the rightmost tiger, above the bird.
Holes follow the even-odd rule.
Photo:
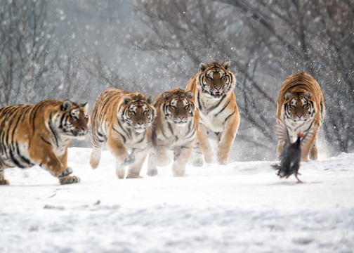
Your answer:
[[[310,91],[285,94],[284,117],[300,122],[312,119],[314,115],[315,106]]]

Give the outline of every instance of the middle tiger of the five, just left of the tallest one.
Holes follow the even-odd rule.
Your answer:
[[[147,175],[157,175],[156,166],[171,162],[173,176],[185,176],[185,166],[197,138],[199,112],[192,91],[172,89],[160,94],[154,103],[157,115],[152,127],[152,150],[147,162]]]

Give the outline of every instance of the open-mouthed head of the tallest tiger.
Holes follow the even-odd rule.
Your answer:
[[[229,71],[230,62],[225,63],[200,63],[199,89],[207,96],[221,98],[235,88],[236,78]]]

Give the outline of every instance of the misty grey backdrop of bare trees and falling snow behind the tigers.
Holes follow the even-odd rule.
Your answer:
[[[230,60],[241,123],[229,162],[275,159],[277,96],[294,72],[325,96],[319,154],[354,152],[353,0],[0,0],[0,23],[0,106],[69,99],[91,112],[108,87],[156,98],[199,63]]]

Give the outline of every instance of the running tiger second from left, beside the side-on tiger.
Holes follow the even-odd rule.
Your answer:
[[[91,112],[92,152],[90,164],[98,167],[103,145],[107,145],[116,158],[116,174],[124,179],[140,178],[140,169],[151,143],[155,108],[152,97],[142,93],[128,93],[119,89],[106,89],[96,99]]]

